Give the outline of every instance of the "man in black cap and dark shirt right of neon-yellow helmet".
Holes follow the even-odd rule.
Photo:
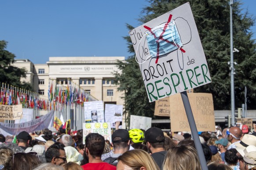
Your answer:
[[[150,127],[145,132],[145,141],[151,156],[162,169],[166,154],[164,132],[158,127]]]

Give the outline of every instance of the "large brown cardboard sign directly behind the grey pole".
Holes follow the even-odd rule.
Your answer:
[[[188,93],[197,131],[215,131],[213,99],[210,93]],[[170,96],[171,131],[190,131],[180,94]]]

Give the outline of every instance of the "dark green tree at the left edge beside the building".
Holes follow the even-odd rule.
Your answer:
[[[31,85],[20,81],[20,78],[26,78],[25,68],[18,68],[12,65],[15,55],[5,50],[6,47],[7,42],[4,40],[0,41],[0,82],[31,90]]]

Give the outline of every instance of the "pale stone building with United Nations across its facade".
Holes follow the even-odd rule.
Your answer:
[[[67,85],[71,80],[75,85],[88,92],[104,105],[123,105],[122,92],[113,85],[114,72],[120,72],[117,60],[124,57],[49,57],[46,64],[33,64],[27,59],[16,59],[16,67],[25,67],[27,76],[22,81],[30,82],[34,92],[48,96],[49,83],[55,81]]]

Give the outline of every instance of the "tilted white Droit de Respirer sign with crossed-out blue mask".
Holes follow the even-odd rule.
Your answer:
[[[129,35],[150,102],[211,82],[189,3]]]

